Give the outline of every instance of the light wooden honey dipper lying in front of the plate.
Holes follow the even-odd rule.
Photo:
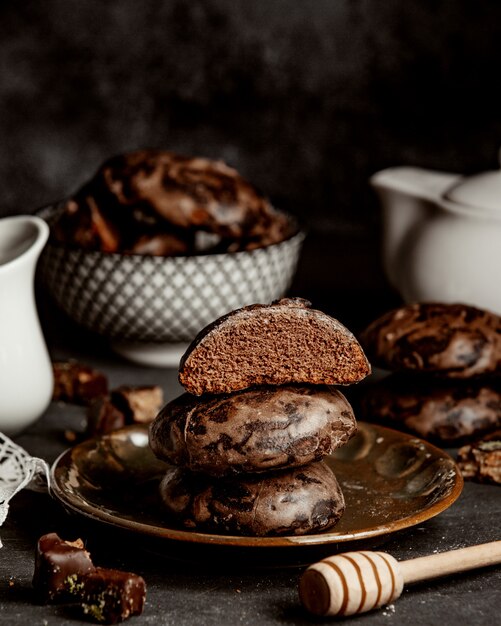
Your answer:
[[[299,581],[315,615],[354,615],[390,604],[404,584],[501,563],[501,541],[397,561],[385,552],[346,552],[311,565]]]

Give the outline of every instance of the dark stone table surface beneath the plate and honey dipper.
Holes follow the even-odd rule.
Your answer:
[[[105,345],[92,345],[81,336],[76,342],[73,330],[53,324],[49,337],[52,358],[73,357],[90,363],[108,375],[112,387],[159,384],[166,399],[179,394],[181,388],[174,369],[133,365]],[[29,453],[52,463],[68,447],[64,430],[78,430],[83,420],[82,408],[53,403],[35,425],[15,439]],[[449,509],[425,523],[385,537],[378,549],[406,560],[494,541],[500,539],[500,520],[501,487],[467,483]],[[146,607],[141,616],[128,620],[131,626],[333,622],[306,614],[299,602],[297,585],[304,566],[332,553],[335,547],[311,551],[292,548],[292,552],[286,548],[288,552],[263,556],[252,549],[206,550],[179,543],[155,543],[70,516],[49,495],[25,490],[12,500],[8,518],[0,528],[4,544],[0,549],[0,624],[82,623],[63,607],[34,602],[34,548],[39,536],[52,531],[65,539],[82,537],[98,565],[133,571],[145,578]],[[349,544],[341,547],[349,549]],[[409,586],[393,605],[350,618],[347,623],[492,626],[499,623],[500,609],[501,567],[490,567]]]

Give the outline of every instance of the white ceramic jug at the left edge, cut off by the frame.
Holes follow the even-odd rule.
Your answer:
[[[15,435],[47,408],[52,365],[34,297],[49,228],[35,216],[0,219],[0,431]]]

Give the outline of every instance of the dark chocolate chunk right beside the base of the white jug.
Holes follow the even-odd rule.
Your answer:
[[[55,401],[89,404],[91,400],[108,392],[108,379],[98,370],[77,361],[56,361],[54,372]]]

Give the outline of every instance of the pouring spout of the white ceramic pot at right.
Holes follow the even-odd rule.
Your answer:
[[[376,172],[369,181],[371,186],[379,192],[399,192],[422,200],[438,202],[443,194],[461,178],[460,174],[401,166]]]

